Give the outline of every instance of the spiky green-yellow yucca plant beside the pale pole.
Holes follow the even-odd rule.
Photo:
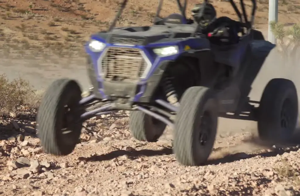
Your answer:
[[[277,49],[282,57],[296,60],[296,51],[300,46],[300,24],[295,23],[289,29],[285,29],[282,23],[270,22],[271,31],[276,38]]]

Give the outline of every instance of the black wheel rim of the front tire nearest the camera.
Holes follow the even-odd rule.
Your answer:
[[[208,142],[212,130],[212,117],[208,111],[205,111],[201,117],[199,127],[199,144],[205,146]]]

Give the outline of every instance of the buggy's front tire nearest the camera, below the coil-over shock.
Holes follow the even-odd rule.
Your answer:
[[[188,88],[176,116],[173,151],[177,161],[187,166],[205,163],[217,133],[218,102],[207,87]]]

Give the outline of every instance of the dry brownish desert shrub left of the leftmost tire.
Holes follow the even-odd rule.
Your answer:
[[[38,107],[41,93],[22,78],[9,81],[5,74],[0,75],[0,113],[15,112],[20,106],[28,109]]]

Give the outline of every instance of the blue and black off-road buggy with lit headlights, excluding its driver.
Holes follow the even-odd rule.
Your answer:
[[[251,1],[250,21],[243,0],[243,18],[233,0],[229,1],[241,30],[238,43],[223,44],[214,42],[221,39],[214,32],[204,34],[199,21],[186,19],[186,0],[184,5],[177,0],[180,15],[160,18],[160,0],[152,26],[116,28],[127,3],[124,0],[109,30],[91,35],[85,46],[93,85],[89,95],[82,98],[81,88],[71,79],[54,81],[46,90],[38,111],[45,151],[70,154],[83,121],[118,110],[131,111],[130,130],[141,141],[155,142],[166,125],[173,127],[173,151],[184,165],[207,161],[219,116],[257,121],[264,140],[289,139],[298,116],[293,82],[274,78],[259,102],[248,97],[275,46],[252,29],[256,1]]]

